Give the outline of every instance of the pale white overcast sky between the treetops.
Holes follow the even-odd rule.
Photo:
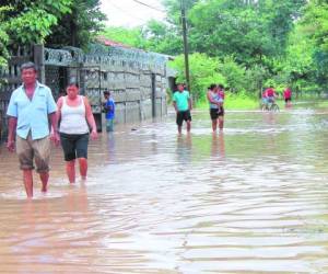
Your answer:
[[[165,13],[159,10],[164,10],[161,0],[102,0],[102,11],[108,18],[108,26],[133,27],[150,19],[163,20]]]

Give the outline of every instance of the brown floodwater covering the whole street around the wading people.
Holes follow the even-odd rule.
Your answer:
[[[103,134],[73,186],[54,149],[30,202],[2,147],[0,272],[328,273],[328,110],[192,118]]]

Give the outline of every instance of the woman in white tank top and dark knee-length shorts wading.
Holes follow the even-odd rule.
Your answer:
[[[75,182],[75,159],[79,161],[81,179],[85,180],[89,136],[92,139],[97,138],[97,128],[91,105],[85,96],[79,95],[79,84],[72,80],[67,87],[67,96],[59,98],[57,106],[57,118],[60,121],[60,142],[69,182]]]

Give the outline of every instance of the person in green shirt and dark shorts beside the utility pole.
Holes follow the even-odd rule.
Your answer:
[[[176,112],[176,124],[178,133],[181,134],[184,121],[187,123],[187,133],[191,129],[191,98],[189,91],[185,90],[185,84],[179,83],[177,91],[173,94],[173,106]]]

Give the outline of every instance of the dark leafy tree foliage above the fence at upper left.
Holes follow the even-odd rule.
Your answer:
[[[99,0],[3,0],[0,8],[0,65],[10,45],[86,47],[102,30]]]

